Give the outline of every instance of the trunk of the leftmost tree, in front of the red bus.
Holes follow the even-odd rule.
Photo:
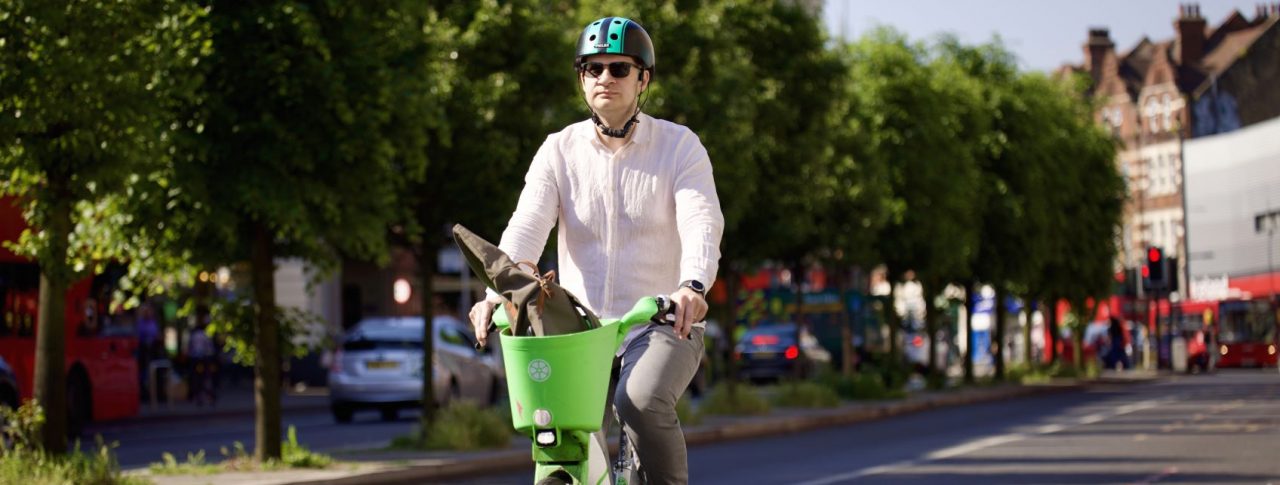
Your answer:
[[[67,453],[67,251],[72,230],[70,197],[54,189],[45,230],[49,257],[40,271],[40,310],[36,330],[35,398],[45,409],[41,447],[47,453]]]

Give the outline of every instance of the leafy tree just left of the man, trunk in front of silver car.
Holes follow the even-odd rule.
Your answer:
[[[554,14],[548,14],[548,13]],[[497,242],[538,147],[571,116],[582,116],[572,69],[577,26],[549,0],[454,1],[435,10],[447,59],[447,123],[429,127],[426,177],[404,187],[407,223],[393,241],[417,261],[425,361],[431,361],[431,279],[449,223]],[[572,37],[572,38],[571,38]],[[447,47],[447,49],[445,49]],[[463,289],[468,290],[468,289]],[[422,372],[424,416],[435,413],[434,372]],[[425,433],[426,426],[421,427]]]

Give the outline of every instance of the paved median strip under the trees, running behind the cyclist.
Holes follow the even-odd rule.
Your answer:
[[[709,416],[685,429],[690,445],[799,433],[819,427],[849,425],[920,412],[938,407],[973,404],[1016,397],[1079,390],[1091,385],[1146,383],[1156,372],[1130,371],[1105,374],[1091,381],[1061,380],[1032,385],[963,388],[913,393],[905,399],[846,402],[836,408],[777,408],[765,416]],[[287,485],[287,484],[398,484],[429,482],[476,472],[502,472],[529,468],[530,441],[515,438],[506,449],[485,452],[390,452],[364,450],[334,454],[343,462],[332,470],[291,470],[279,472],[228,472],[205,476],[151,476],[157,485]]]

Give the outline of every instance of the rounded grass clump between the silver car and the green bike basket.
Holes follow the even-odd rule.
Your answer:
[[[426,438],[422,427],[426,426]],[[511,421],[498,411],[470,402],[452,403],[436,412],[431,422],[421,422],[408,435],[392,439],[393,449],[472,450],[511,444]]]

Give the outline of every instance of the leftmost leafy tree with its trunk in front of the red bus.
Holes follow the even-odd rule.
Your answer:
[[[111,244],[120,215],[102,202],[168,160],[184,123],[170,107],[205,49],[201,17],[163,0],[0,1],[0,195],[18,196],[35,228],[17,250],[41,269],[35,397],[47,452],[67,449],[68,284],[128,257]]]

